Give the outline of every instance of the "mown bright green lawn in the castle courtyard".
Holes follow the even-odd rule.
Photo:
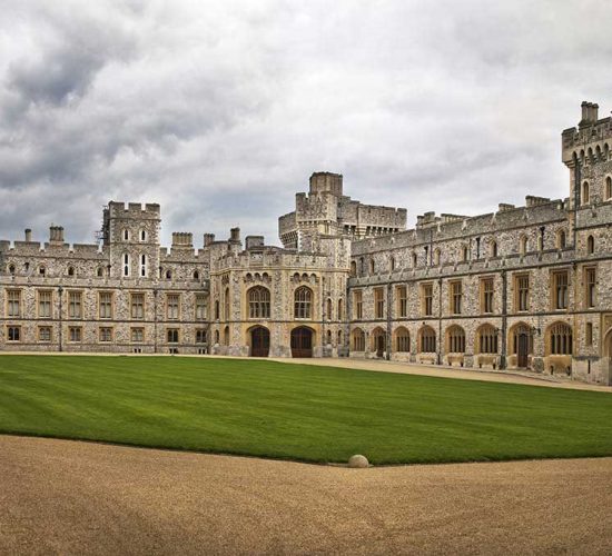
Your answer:
[[[612,395],[248,359],[0,356],[0,433],[308,461],[612,456]]]

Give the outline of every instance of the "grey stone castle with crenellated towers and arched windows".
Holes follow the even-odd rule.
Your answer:
[[[612,384],[612,121],[562,133],[565,199],[417,218],[318,172],[279,218],[283,248],[172,234],[110,202],[100,242],[0,241],[0,350],[379,357]]]

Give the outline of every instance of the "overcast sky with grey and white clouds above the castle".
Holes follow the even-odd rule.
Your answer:
[[[416,215],[565,197],[560,133],[612,109],[601,0],[0,0],[0,237],[265,234],[313,171]]]

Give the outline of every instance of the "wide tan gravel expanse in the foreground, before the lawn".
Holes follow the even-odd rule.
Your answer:
[[[0,554],[610,554],[612,459],[346,469],[0,436]]]

